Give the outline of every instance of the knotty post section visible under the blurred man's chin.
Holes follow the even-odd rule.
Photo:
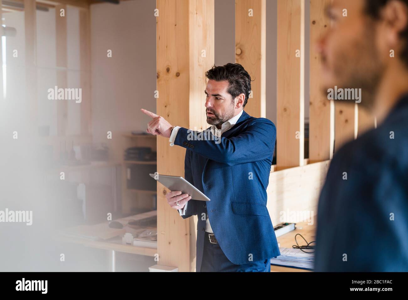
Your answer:
[[[346,142],[357,138],[358,109],[357,104],[335,103],[335,151]]]

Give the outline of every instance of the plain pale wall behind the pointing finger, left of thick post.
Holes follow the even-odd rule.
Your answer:
[[[146,129],[140,109],[156,111],[154,9],[152,0],[91,5],[92,134],[106,142],[113,133],[115,159],[122,158],[121,133]]]

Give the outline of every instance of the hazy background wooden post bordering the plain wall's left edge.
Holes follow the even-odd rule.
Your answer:
[[[91,18],[89,9],[79,12],[80,28],[80,85],[82,88],[81,134],[92,131],[91,105]]]

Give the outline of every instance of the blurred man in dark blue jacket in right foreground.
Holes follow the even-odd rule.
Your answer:
[[[324,90],[361,89],[357,105],[378,127],[333,157],[315,270],[408,271],[408,0],[334,0],[327,13],[333,26],[318,43]]]

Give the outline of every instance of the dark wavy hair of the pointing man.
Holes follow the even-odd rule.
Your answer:
[[[228,93],[235,99],[240,94],[245,94],[244,107],[248,102],[251,92],[251,76],[240,64],[228,63],[224,66],[215,65],[206,71],[206,78],[215,81],[228,81]]]

